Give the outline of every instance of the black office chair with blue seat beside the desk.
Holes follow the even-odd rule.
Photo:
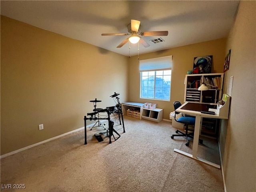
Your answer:
[[[175,110],[175,114],[174,114],[174,119],[176,122],[178,123],[183,123],[185,126],[186,126],[186,132],[181,132],[179,130],[176,130],[176,133],[181,133],[181,134],[177,134],[177,135],[172,135],[171,138],[173,139],[174,137],[186,137],[186,146],[189,146],[189,141],[188,141],[188,138],[192,138],[194,139],[194,132],[191,132],[191,133],[188,133],[188,126],[189,125],[195,125],[195,122],[196,122],[196,118],[194,117],[186,117],[186,116],[183,116],[182,114],[182,117],[178,118],[176,120],[176,114],[180,114],[180,112],[176,112],[176,109],[178,109],[180,106],[181,106],[181,103],[178,102],[178,101],[175,101],[173,103],[174,105],[174,110]],[[202,144],[203,143],[203,140],[202,139],[199,139],[199,143]]]

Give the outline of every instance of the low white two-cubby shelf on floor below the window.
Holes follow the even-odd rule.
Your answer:
[[[142,119],[154,121],[154,122],[160,122],[163,120],[163,109],[142,109],[141,114]]]

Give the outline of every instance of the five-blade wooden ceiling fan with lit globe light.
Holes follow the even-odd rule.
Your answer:
[[[128,41],[135,44],[140,42],[144,47],[149,47],[148,44],[141,36],[167,36],[168,31],[147,31],[147,32],[140,32],[140,21],[138,20],[131,20],[131,23],[128,24],[128,32],[129,33],[102,33],[102,36],[108,35],[130,35],[130,37],[126,38],[122,43],[120,43],[117,48],[122,47]]]

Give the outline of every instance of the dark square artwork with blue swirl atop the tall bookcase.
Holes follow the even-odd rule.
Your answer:
[[[201,56],[194,58],[194,73],[211,73],[212,70],[212,55]]]

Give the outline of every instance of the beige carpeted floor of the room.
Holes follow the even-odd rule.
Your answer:
[[[84,131],[29,148],[1,159],[1,191],[22,192],[223,192],[221,169],[174,152],[192,153],[170,122],[124,116],[126,133],[108,144],[94,137],[101,128]],[[198,156],[220,164],[216,140],[203,138]],[[11,184],[11,189],[4,186]],[[25,189],[13,189],[25,184]]]

